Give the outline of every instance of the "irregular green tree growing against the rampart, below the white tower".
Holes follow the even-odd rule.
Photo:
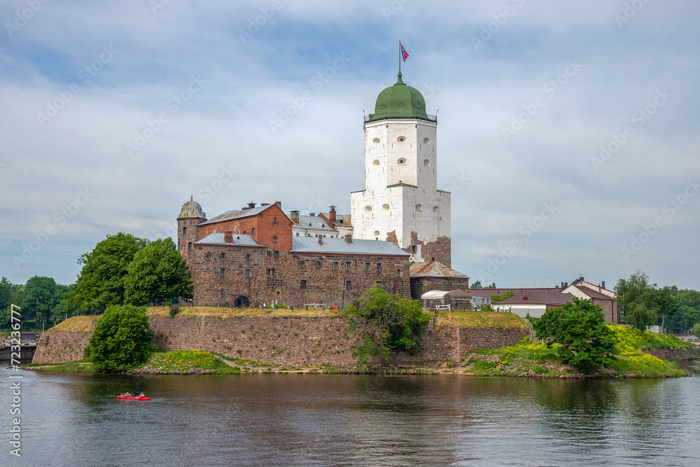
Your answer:
[[[363,343],[355,355],[358,363],[367,363],[370,356],[381,356],[381,366],[391,351],[421,351],[422,334],[432,319],[423,312],[421,302],[402,297],[399,293],[386,293],[379,284],[368,289],[360,298],[344,310],[350,330],[359,330]]]

